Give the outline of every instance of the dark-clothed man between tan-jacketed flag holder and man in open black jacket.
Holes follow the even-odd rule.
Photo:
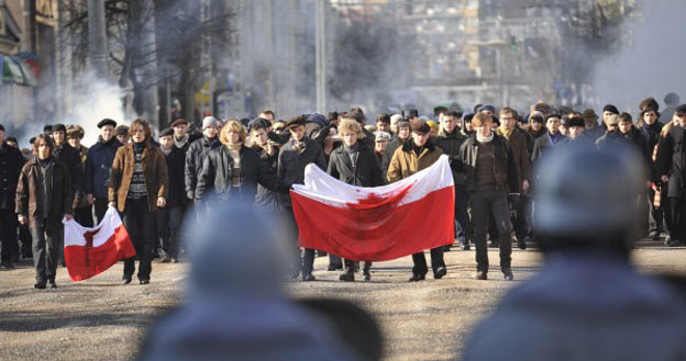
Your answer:
[[[467,140],[457,128],[460,113],[446,112],[440,116],[440,126],[438,136],[433,139],[436,146],[447,155],[451,170],[453,172],[453,182],[455,183],[455,219],[460,224],[462,234],[456,235],[460,239],[463,250],[469,249],[469,239],[472,239],[472,225],[469,224],[469,215],[467,213],[467,200],[469,194],[465,187],[465,174],[460,161],[460,147]]]

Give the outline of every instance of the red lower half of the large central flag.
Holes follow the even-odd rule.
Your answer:
[[[387,261],[452,244],[454,187],[397,205],[395,201],[405,193],[392,201],[384,200],[381,206],[353,208],[336,207],[291,192],[298,245],[348,260]]]

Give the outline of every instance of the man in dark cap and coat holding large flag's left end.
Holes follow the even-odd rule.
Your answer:
[[[305,136],[303,116],[290,119],[286,123],[285,128],[290,133],[290,139],[279,150],[277,174],[286,184],[302,184],[305,182],[305,168],[309,163],[327,169],[324,151],[319,144]],[[279,202],[279,207],[294,230],[290,238],[296,242],[298,239],[298,224],[294,215],[290,194],[280,194]],[[297,278],[300,274],[300,270],[302,270],[302,281],[314,281],[314,275],[312,275],[314,250],[305,249],[302,262],[300,263],[300,257],[298,257],[298,263],[294,268],[294,277]]]

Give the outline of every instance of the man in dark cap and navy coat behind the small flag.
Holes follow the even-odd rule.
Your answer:
[[[100,136],[98,143],[88,148],[86,154],[86,167],[84,188],[88,203],[95,204],[98,223],[104,217],[108,207],[108,182],[110,168],[114,161],[117,149],[123,144],[115,137],[117,122],[103,119],[98,123]]]

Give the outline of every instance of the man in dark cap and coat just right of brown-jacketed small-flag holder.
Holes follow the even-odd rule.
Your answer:
[[[165,155],[169,192],[167,204],[155,212],[157,218],[157,239],[162,242],[163,263],[178,261],[179,228],[184,215],[184,150],[174,145],[174,131],[166,128],[159,133],[159,149]]]

